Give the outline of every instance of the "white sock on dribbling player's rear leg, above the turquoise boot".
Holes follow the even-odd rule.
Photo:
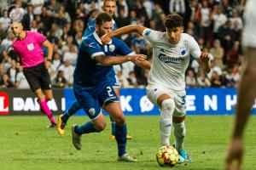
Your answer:
[[[184,121],[181,123],[173,122],[173,128],[174,128],[173,133],[175,136],[176,150],[177,151],[183,150],[183,143],[186,135],[185,122]]]

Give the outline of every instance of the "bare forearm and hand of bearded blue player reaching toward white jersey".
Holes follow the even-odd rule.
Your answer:
[[[121,65],[125,62],[131,61],[133,63],[142,63],[147,59],[144,54],[132,54],[128,56],[106,56],[106,55],[96,55],[94,58],[97,62],[102,65]]]

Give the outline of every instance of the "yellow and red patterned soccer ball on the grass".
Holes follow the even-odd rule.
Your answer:
[[[156,161],[158,164],[163,166],[173,167],[177,164],[178,153],[172,146],[162,146],[156,154]]]

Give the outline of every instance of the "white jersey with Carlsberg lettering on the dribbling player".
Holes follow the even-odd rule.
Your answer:
[[[177,44],[171,44],[166,32],[145,29],[143,37],[153,48],[153,63],[148,86],[158,85],[175,91],[185,88],[185,71],[189,58],[199,58],[201,49],[194,37],[183,33]]]

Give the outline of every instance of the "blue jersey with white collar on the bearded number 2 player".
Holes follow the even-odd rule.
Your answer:
[[[113,66],[97,63],[96,55],[116,56],[133,53],[131,49],[117,38],[112,38],[107,45],[102,45],[101,38],[96,32],[83,37],[79,45],[78,62],[74,71],[74,82],[85,87],[96,86],[100,82],[109,82],[108,73],[113,71]],[[114,76],[114,75],[113,75]]]

